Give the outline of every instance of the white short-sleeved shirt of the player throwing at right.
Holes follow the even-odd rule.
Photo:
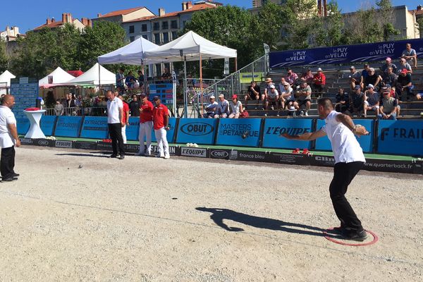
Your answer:
[[[324,120],[323,130],[331,141],[333,156],[335,157],[335,164],[343,162],[350,163],[353,161],[364,161],[363,150],[360,147],[354,133],[348,129],[343,123],[336,120],[338,116],[337,111],[331,111],[331,113]]]

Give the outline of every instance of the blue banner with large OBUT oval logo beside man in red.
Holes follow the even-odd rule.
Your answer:
[[[176,143],[214,145],[215,118],[180,118]]]

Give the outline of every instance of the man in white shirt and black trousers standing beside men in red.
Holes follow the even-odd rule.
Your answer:
[[[111,154],[110,158],[118,157],[119,147],[119,159],[125,159],[125,148],[123,147],[122,137],[122,128],[125,126],[125,121],[123,120],[123,103],[111,91],[107,92],[107,99],[107,124],[109,125],[109,135],[113,149],[113,154]]]

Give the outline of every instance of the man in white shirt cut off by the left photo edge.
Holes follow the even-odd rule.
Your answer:
[[[19,174],[15,173],[15,145],[20,146],[18,130],[16,129],[16,118],[11,108],[15,104],[12,95],[5,95],[0,106],[0,173],[1,181],[18,180]]]

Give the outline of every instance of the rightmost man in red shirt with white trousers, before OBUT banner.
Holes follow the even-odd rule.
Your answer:
[[[169,130],[169,111],[167,106],[161,104],[158,96],[154,96],[153,99],[155,104],[153,109],[154,134],[156,135],[157,146],[159,146],[157,157],[169,159],[169,146],[166,138],[166,130]]]

